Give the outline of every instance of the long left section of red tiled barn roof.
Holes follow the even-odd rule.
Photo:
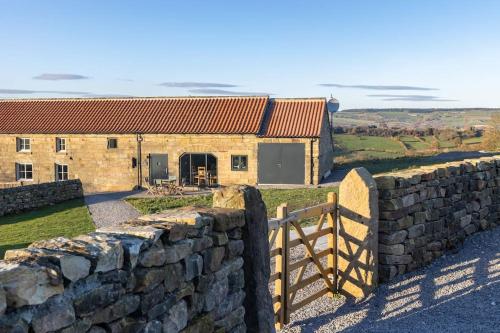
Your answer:
[[[0,133],[257,134],[268,97],[0,100]]]

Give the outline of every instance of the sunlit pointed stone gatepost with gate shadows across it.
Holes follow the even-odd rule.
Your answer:
[[[338,289],[366,297],[378,281],[378,191],[365,168],[340,183],[339,212]]]

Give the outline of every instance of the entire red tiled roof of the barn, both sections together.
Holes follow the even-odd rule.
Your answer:
[[[319,137],[325,103],[265,96],[0,100],[0,133]]]

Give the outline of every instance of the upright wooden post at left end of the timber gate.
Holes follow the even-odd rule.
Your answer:
[[[278,206],[276,210],[276,217],[279,220],[283,220],[288,216],[288,205],[286,203]],[[280,254],[276,256],[276,272],[280,274],[280,277],[276,280],[274,284],[274,292],[276,295],[280,296],[280,308],[278,321],[276,323],[277,329],[282,329],[285,324],[290,322],[290,308],[288,304],[289,300],[289,286],[290,286],[290,276],[288,272],[288,241],[290,237],[290,224],[283,223],[280,227],[278,238],[276,240],[276,246],[280,247]],[[275,309],[276,310],[276,309]]]

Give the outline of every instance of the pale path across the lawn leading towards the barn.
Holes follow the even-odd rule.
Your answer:
[[[85,196],[85,204],[97,228],[118,225],[140,214],[123,199],[136,192],[98,193]]]

